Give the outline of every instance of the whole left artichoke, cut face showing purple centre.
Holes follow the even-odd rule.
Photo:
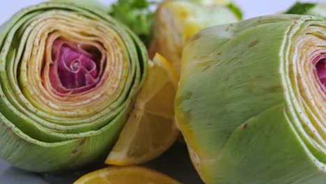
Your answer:
[[[40,3],[0,28],[0,156],[15,167],[104,159],[146,76],[139,38],[85,5]]]

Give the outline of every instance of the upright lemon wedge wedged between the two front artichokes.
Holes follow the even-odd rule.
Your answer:
[[[170,63],[156,54],[130,118],[105,163],[125,166],[148,162],[176,141],[173,102],[177,85]]]

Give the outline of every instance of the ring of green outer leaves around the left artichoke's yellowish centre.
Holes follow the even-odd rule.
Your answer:
[[[76,13],[79,16],[93,17],[114,29],[120,34],[129,52],[130,72],[123,93],[112,104],[115,105],[114,108],[120,109],[116,114],[111,114],[111,110],[107,109],[104,114],[94,114],[102,122],[102,125],[98,127],[95,127],[93,120],[88,120],[88,122],[84,122],[88,125],[83,128],[78,128],[79,125],[76,125],[76,132],[56,132],[52,128],[43,127],[47,122],[46,119],[35,121],[29,116],[23,116],[15,106],[10,105],[14,98],[8,98],[7,95],[10,93],[15,95],[15,93],[8,89],[8,87],[14,86],[10,86],[6,77],[13,73],[3,68],[4,63],[1,63],[0,156],[13,166],[29,171],[48,172],[76,169],[107,155],[126,122],[132,100],[147,72],[146,48],[130,29],[102,11],[85,8],[84,5],[72,6],[71,3],[59,2],[40,3],[37,6],[25,8],[0,27],[1,61],[6,64],[12,62],[10,56],[7,57],[6,54],[13,52],[15,44],[12,45],[11,42],[19,40],[19,37],[10,40],[13,39],[10,38],[10,34],[15,31],[13,28],[17,22],[24,20],[24,17],[33,19],[33,16],[48,10],[69,10],[70,13]],[[29,43],[24,44],[28,46]],[[5,86],[7,87],[4,88]]]

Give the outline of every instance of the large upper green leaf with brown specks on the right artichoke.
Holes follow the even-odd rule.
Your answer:
[[[194,130],[215,132],[205,135],[194,132],[198,133],[196,141],[203,146],[200,152],[205,158],[214,158],[233,130],[244,121],[284,101],[281,77],[277,77],[280,61],[275,61],[275,58],[278,58],[282,44],[279,40],[292,22],[276,18],[270,22],[272,19],[265,20],[268,24],[259,24],[256,19],[249,25],[240,22],[205,29],[195,35],[184,49],[176,109],[190,113],[178,116],[184,117],[191,127],[196,127]],[[259,26],[251,28],[254,25]],[[244,29],[248,30],[241,33]],[[274,31],[270,32],[271,29]],[[264,34],[266,32],[268,36]],[[268,58],[258,54],[265,52],[267,47],[273,48],[268,51]],[[203,79],[207,80],[203,82]],[[194,102],[205,103],[190,106]],[[230,116],[231,112],[237,112],[237,116]],[[219,129],[212,128],[214,119],[219,119]],[[230,123],[224,126],[224,122]],[[211,140],[218,140],[213,147]]]

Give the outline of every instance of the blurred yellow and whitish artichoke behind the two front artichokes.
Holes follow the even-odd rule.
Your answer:
[[[208,3],[208,6],[203,4]],[[148,52],[162,54],[180,72],[183,47],[195,33],[209,26],[238,22],[226,6],[212,6],[223,1],[164,1],[155,13],[154,37]]]

